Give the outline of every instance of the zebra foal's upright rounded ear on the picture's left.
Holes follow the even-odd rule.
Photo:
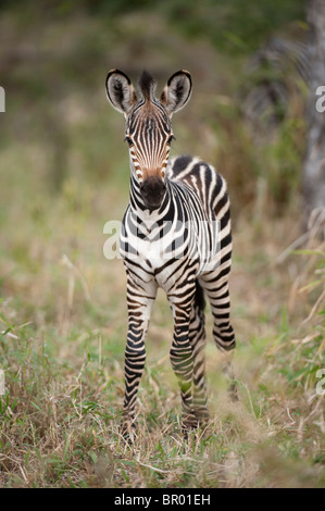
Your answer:
[[[137,102],[134,86],[126,74],[112,70],[107,76],[107,94],[109,101],[118,112],[128,115]]]

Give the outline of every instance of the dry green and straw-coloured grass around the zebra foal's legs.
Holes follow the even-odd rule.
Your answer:
[[[58,208],[60,225],[66,200]],[[85,221],[84,233],[93,221],[92,215]],[[290,219],[286,222],[288,228]],[[232,277],[240,401],[228,402],[218,354],[209,342],[212,421],[188,441],[180,435],[178,389],[167,357],[172,321],[159,294],[139,391],[138,439],[129,446],[118,433],[126,331],[122,262],[97,258],[97,251],[89,256],[83,247],[74,251],[57,234],[61,253],[74,263],[66,256],[62,264],[55,244],[46,249],[35,238],[32,266],[20,251],[14,264],[7,260],[12,271],[2,283],[0,316],[2,486],[324,486],[324,398],[315,392],[315,374],[324,364],[324,315],[315,310],[299,329],[311,310],[301,295],[310,292],[310,303],[317,301],[321,283],[305,285],[313,282],[314,269],[320,277],[324,267],[321,248],[289,256],[290,272],[299,275],[299,289],[304,290],[299,294],[296,285],[291,304],[285,306],[279,296],[290,296],[290,286],[295,288],[288,264],[273,269],[265,286],[280,246],[274,242],[267,249],[265,234],[261,258],[257,245],[246,239],[249,234],[261,240],[259,229],[254,234],[241,224],[235,230],[235,246],[245,247],[238,261],[235,251]],[[96,238],[100,246],[100,232]],[[265,295],[267,310],[261,302]]]

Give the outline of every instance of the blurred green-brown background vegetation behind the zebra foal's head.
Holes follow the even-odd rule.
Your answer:
[[[174,153],[217,166],[234,214],[257,200],[259,176],[276,209],[297,192],[301,144],[290,130],[303,120],[286,120],[285,144],[254,148],[240,109],[253,84],[247,62],[270,36],[303,33],[304,1],[7,1],[0,9],[2,219],[29,192],[36,207],[68,186],[105,186],[108,196],[110,186],[127,189],[124,121],[105,102],[112,67],[134,80],[148,68],[161,88],[175,70],[190,71],[193,95],[175,117]]]

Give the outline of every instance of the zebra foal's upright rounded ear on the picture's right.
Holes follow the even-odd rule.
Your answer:
[[[171,76],[160,98],[171,117],[173,113],[186,105],[191,89],[191,77],[188,71],[177,71]]]

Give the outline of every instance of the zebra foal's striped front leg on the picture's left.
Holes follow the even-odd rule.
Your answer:
[[[125,395],[122,433],[133,436],[135,432],[135,410],[139,383],[146,362],[145,339],[149,319],[155,299],[157,288],[145,292],[130,278],[127,282],[128,332],[125,349]]]

